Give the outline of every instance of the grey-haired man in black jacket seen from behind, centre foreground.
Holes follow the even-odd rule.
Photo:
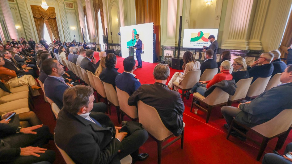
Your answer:
[[[129,105],[139,100],[154,107],[165,127],[175,136],[183,131],[184,102],[180,94],[167,88],[170,70],[166,64],[158,64],[153,71],[154,84],[143,84],[128,99]]]

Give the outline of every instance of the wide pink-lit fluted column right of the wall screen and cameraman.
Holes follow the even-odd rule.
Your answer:
[[[234,0],[229,25],[228,39],[221,46],[226,49],[246,50],[248,47],[248,30],[251,28],[250,17],[254,0]]]

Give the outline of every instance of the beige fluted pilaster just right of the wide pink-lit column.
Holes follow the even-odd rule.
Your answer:
[[[260,38],[262,36],[265,19],[269,7],[270,0],[259,0],[256,7],[256,15],[253,21],[252,33],[249,40],[249,49],[262,50]]]

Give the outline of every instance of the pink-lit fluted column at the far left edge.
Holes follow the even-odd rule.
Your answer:
[[[2,13],[3,13],[3,17],[4,17],[4,20],[5,20],[5,23],[6,23],[7,30],[8,30],[9,35],[10,35],[9,40],[11,40],[11,39],[18,40],[19,38],[18,38],[18,35],[17,35],[17,31],[15,29],[15,23],[14,23],[14,20],[13,20],[13,17],[12,17],[12,13],[11,13],[8,1],[1,0],[0,1],[0,7],[1,7],[1,10],[2,10]],[[8,38],[6,38],[6,39],[8,40]]]

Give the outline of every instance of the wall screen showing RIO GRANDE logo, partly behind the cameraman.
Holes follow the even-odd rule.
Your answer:
[[[211,44],[208,40],[210,35],[214,35],[217,40],[218,29],[184,29],[184,48],[203,48]]]

